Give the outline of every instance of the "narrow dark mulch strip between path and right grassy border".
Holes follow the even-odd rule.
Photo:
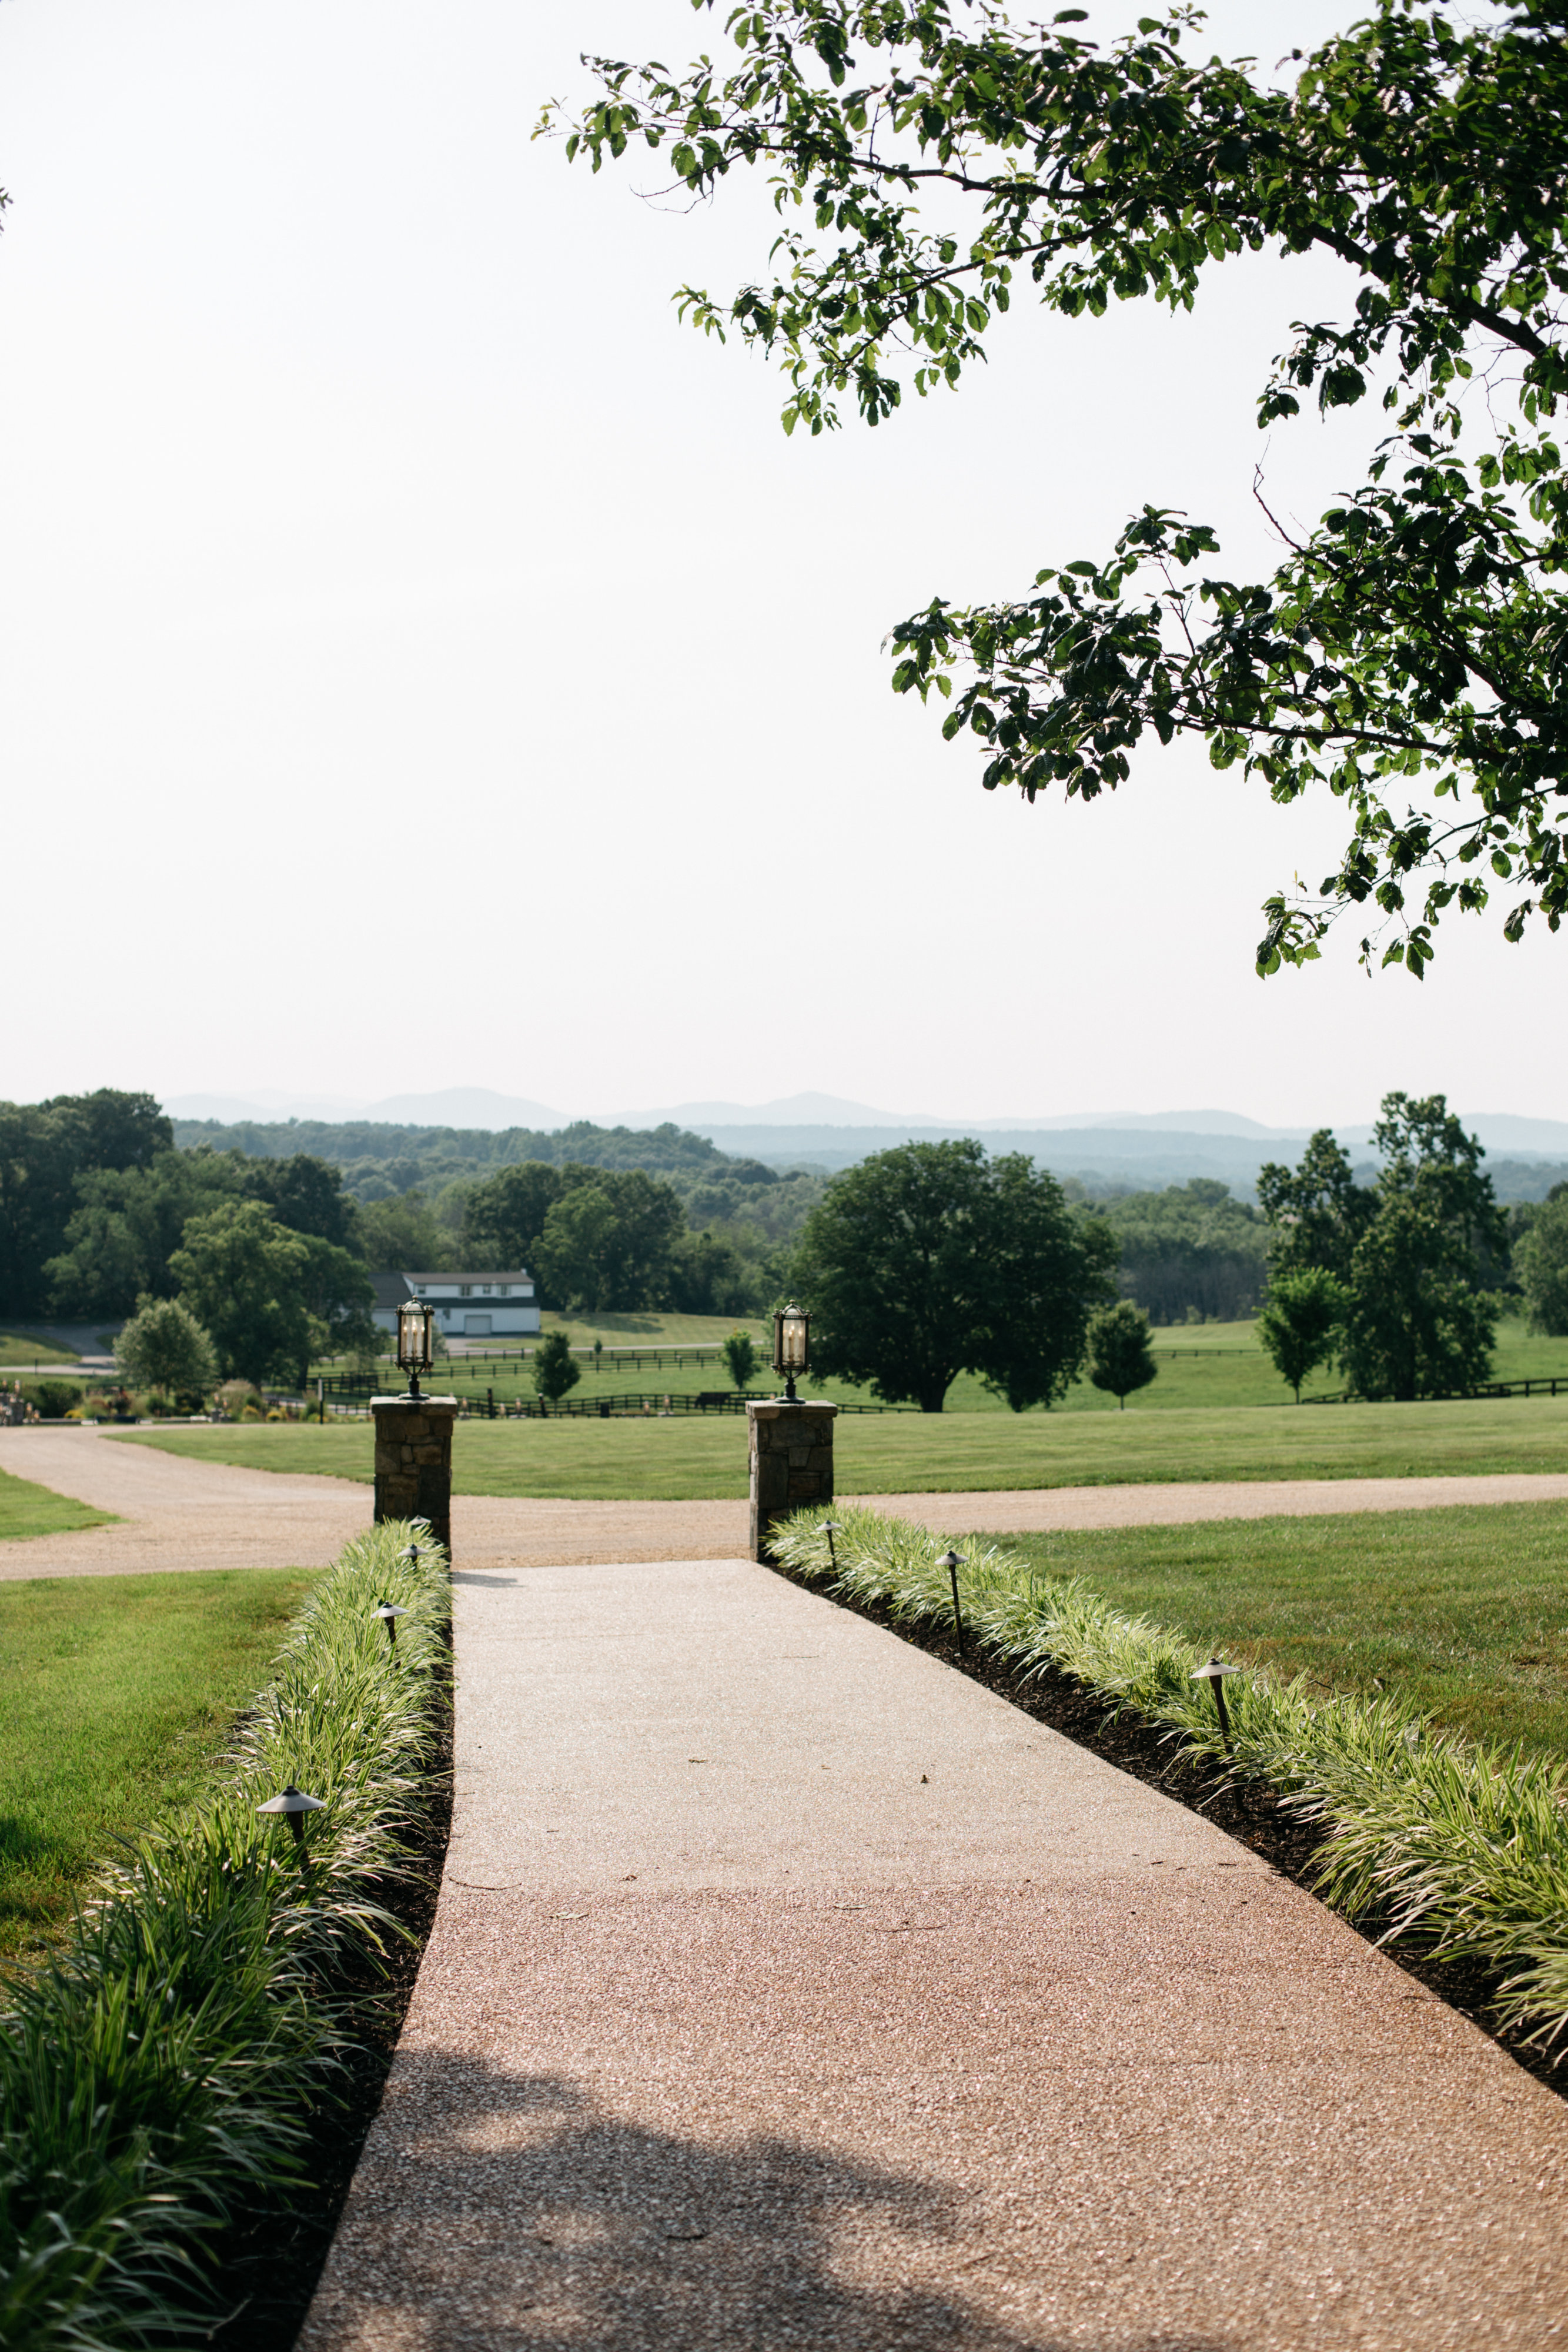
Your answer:
[[[1117,1712],[1100,1691],[1093,1691],[1074,1675],[1063,1675],[1058,1668],[1025,1675],[1023,1668],[1016,1668],[997,1651],[980,1649],[973,1637],[966,1642],[964,1656],[959,1656],[950,1628],[898,1623],[884,1602],[846,1599],[842,1592],[830,1592],[813,1576],[797,1576],[778,1562],[771,1562],[771,1569],[776,1576],[788,1578],[788,1583],[832,1599],[839,1609],[851,1609],[872,1625],[896,1632],[900,1642],[912,1642],[914,1649],[924,1649],[931,1658],[940,1658],[943,1665],[969,1675],[971,1682],[985,1684],[987,1691],[1006,1698],[1009,1705],[1020,1708],[1037,1724],[1048,1724],[1063,1738],[1088,1748],[1091,1755],[1105,1757],[1107,1764],[1131,1773],[1133,1780],[1147,1780],[1150,1788],[1175,1797],[1178,1804],[1190,1806],[1194,1813],[1206,1813],[1208,1820],[1239,1839],[1239,1844],[1260,1853],[1284,1879],[1293,1879],[1307,1893],[1316,1893],[1314,1860],[1324,1844],[1324,1832],[1286,1813],[1267,1790],[1232,1783],[1201,1759],[1185,1762],[1178,1752],[1178,1738],[1164,1724],[1152,1724],[1147,1715],[1138,1715],[1133,1708]],[[1378,1943],[1387,1929],[1387,1917],[1368,1915],[1349,1919],[1349,1926],[1366,1943]],[[1406,1976],[1413,1976],[1427,1992],[1434,1992],[1450,2009],[1458,2009],[1460,2016],[1469,2018],[1472,2025],[1479,2025],[1483,2034],[1490,2034],[1526,2074],[1556,2091],[1559,2098],[1568,2098],[1568,2051],[1561,2051],[1554,2060],[1547,2051],[1528,2049],[1521,2034],[1497,2030],[1495,2002],[1502,1978],[1495,1969],[1486,1969],[1474,1959],[1432,1959],[1413,1940],[1382,1945],[1382,1950]]]

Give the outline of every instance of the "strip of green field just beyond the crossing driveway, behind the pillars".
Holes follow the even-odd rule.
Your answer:
[[[371,1428],[348,1421],[134,1430],[193,1461],[369,1482]],[[842,1494],[1105,1486],[1147,1479],[1427,1477],[1568,1470],[1568,1397],[1479,1404],[1324,1404],[1314,1411],[846,1416]],[[465,1421],[458,1494],[701,1498],[745,1494],[745,1425],[724,1421]]]

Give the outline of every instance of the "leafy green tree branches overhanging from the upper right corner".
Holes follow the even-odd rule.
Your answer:
[[[1027,800],[1114,790],[1145,734],[1204,739],[1276,802],[1328,786],[1345,851],[1316,891],[1267,901],[1260,971],[1368,908],[1363,957],[1420,976],[1441,913],[1497,882],[1509,938],[1533,913],[1556,929],[1568,9],[1514,0],[1472,24],[1382,0],[1295,52],[1284,87],[1253,59],[1190,54],[1187,9],[1107,49],[1084,19],[748,0],[726,14],[729,61],[588,59],[597,99],[541,129],[595,169],[658,148],[689,200],[738,165],[766,174],[764,275],[679,301],[783,362],[788,430],[835,426],[842,402],[879,423],[905,383],[954,386],[1020,294],[1070,318],[1192,308],[1244,252],[1342,263],[1340,315],[1286,329],[1258,423],[1373,400],[1387,435],[1316,529],[1279,527],[1269,579],[1227,579],[1208,524],[1145,506],[1110,553],[1053,555],[1018,600],[936,597],[893,630],[893,684],[947,696],[945,734],[976,739],[983,783]]]

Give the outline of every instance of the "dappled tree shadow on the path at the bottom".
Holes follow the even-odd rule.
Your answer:
[[[1053,2352],[931,2284],[983,2253],[966,2209],[804,2140],[689,2138],[562,2077],[404,2056],[299,2352],[402,2340],[404,2314],[421,2352]]]

